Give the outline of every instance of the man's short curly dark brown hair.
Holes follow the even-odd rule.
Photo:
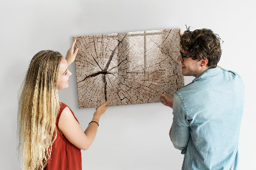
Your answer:
[[[189,56],[193,56],[192,59],[207,59],[207,66],[215,68],[221,56],[220,40],[211,29],[190,31],[188,27],[180,38],[180,45]]]

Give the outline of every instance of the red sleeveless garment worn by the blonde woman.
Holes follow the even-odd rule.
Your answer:
[[[82,169],[81,150],[74,146],[74,144],[70,143],[64,135],[61,135],[60,128],[58,126],[61,112],[65,107],[68,106],[60,102],[60,112],[56,119],[57,137],[52,144],[51,158],[49,158],[47,166],[44,168],[45,170]],[[71,109],[70,111],[77,121],[74,112]]]

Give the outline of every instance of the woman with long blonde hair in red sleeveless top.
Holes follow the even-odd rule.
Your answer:
[[[58,90],[68,88],[76,40],[66,58],[42,50],[31,59],[19,98],[18,132],[22,169],[82,169],[81,150],[93,142],[100,116],[109,102],[97,107],[85,131],[72,110],[61,103]]]

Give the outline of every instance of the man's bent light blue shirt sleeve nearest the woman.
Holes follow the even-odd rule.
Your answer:
[[[182,154],[186,153],[189,136],[189,122],[186,120],[186,109],[179,95],[175,93],[173,95],[173,122],[170,138],[173,146],[178,150],[182,150]]]

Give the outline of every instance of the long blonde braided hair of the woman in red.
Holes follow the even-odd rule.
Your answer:
[[[19,98],[18,134],[22,169],[44,169],[56,139],[60,111],[60,52],[42,50],[29,64]]]

